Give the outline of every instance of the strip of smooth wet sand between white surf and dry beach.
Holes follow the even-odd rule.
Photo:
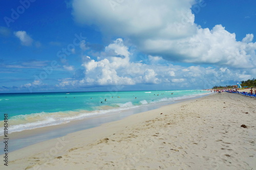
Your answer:
[[[38,142],[54,139],[57,137],[66,136],[69,133],[74,133],[77,131],[82,131],[86,129],[91,129],[95,127],[99,127],[105,123],[115,122],[117,120],[121,120],[127,116],[131,116],[133,114],[139,114],[145,111],[151,111],[155,109],[159,109],[163,106],[173,105],[183,101],[189,101],[197,98],[202,98],[203,96],[210,95],[204,94],[195,96],[192,98],[181,99],[168,103],[156,103],[152,105],[140,106],[138,108],[125,109],[121,111],[115,111],[113,113],[97,115],[93,117],[71,120],[65,124],[51,125],[46,127],[39,127],[35,129],[28,129],[24,131],[12,132],[9,134],[10,142],[13,146],[10,152],[22,149],[24,147],[28,147],[29,145],[36,144]],[[4,140],[0,140],[3,142]],[[0,151],[0,155],[3,154],[4,151]]]

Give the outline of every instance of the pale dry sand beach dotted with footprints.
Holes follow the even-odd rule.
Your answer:
[[[255,169],[255,103],[223,92],[164,106],[14,151],[0,168]]]

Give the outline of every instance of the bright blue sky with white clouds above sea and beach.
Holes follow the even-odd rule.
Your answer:
[[[0,6],[0,93],[208,89],[256,78],[254,0]]]

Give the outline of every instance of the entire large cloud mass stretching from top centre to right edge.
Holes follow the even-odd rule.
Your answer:
[[[103,34],[125,37],[138,50],[170,61],[215,64],[233,68],[255,67],[256,43],[247,34],[242,41],[221,25],[195,24],[193,0],[73,1],[77,22],[96,25]],[[118,26],[118,27],[117,27]]]

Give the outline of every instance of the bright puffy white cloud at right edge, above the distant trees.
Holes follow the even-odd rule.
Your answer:
[[[251,41],[252,35],[244,41]],[[198,29],[192,37],[176,40],[146,40],[144,51],[161,53],[167,60],[180,60],[189,63],[227,65],[236,68],[252,68],[256,60],[256,43],[236,41],[221,25],[212,30]],[[176,58],[179,57],[179,58]]]

